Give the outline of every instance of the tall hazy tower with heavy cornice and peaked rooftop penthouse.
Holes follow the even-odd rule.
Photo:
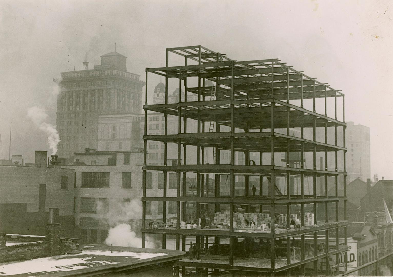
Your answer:
[[[140,114],[140,75],[127,72],[127,57],[118,52],[101,56],[101,65],[61,73],[61,93],[57,97],[59,156],[68,158],[86,147],[97,148],[100,115]],[[115,125],[114,125],[115,126]],[[116,136],[116,126],[111,136]]]

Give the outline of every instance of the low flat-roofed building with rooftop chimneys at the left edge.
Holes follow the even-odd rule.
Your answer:
[[[53,208],[61,235],[73,235],[74,171],[47,165],[46,157],[35,151],[35,163],[0,165],[0,232],[44,235]]]

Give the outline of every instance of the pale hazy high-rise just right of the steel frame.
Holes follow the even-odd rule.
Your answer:
[[[360,178],[366,182],[371,176],[370,169],[370,128],[363,125],[354,125],[353,122],[347,122],[345,130],[345,146],[347,180],[349,182]]]

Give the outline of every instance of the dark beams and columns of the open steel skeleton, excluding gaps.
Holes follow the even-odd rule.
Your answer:
[[[168,66],[169,53],[175,53],[184,57],[184,65]],[[197,64],[188,65],[188,61],[195,61]],[[194,62],[194,63],[195,63]],[[165,103],[149,105],[148,99],[148,73],[155,73],[165,77]],[[197,87],[187,86],[187,79],[195,77],[198,79]],[[182,90],[184,95],[180,95],[178,103],[168,103],[168,80],[177,78],[179,80],[179,91]],[[210,80],[216,84],[214,97],[211,92],[212,86],[206,86],[205,81]],[[198,95],[198,101],[187,101],[187,94],[193,93]],[[334,99],[334,118],[327,116],[327,99]],[[331,86],[316,81],[305,75],[303,72],[294,70],[287,66],[279,59],[263,59],[254,61],[235,61],[222,55],[219,52],[211,51],[203,46],[187,46],[179,48],[167,48],[165,67],[146,68],[146,92],[145,92],[145,129],[144,129],[144,163],[143,163],[143,218],[142,218],[142,247],[145,246],[145,234],[155,233],[162,234],[162,247],[166,246],[166,235],[176,236],[176,249],[180,249],[180,240],[182,249],[185,250],[185,236],[224,236],[230,237],[230,259],[229,264],[212,264],[190,261],[179,261],[176,263],[179,267],[195,268],[216,268],[224,270],[247,270],[263,271],[274,273],[282,270],[290,270],[295,266],[300,266],[304,273],[304,265],[307,262],[314,262],[316,269],[316,260],[328,255],[336,255],[337,261],[340,252],[345,251],[339,247],[338,228],[344,228],[346,233],[346,184],[345,184],[345,121],[344,121],[344,95]],[[312,99],[312,109],[306,109],[303,102],[306,99]],[[324,101],[325,111],[323,114],[316,112],[316,100]],[[342,101],[342,111],[338,110],[338,101]],[[293,101],[297,101],[293,103]],[[147,113],[154,111],[162,113],[165,117],[165,129],[163,135],[147,135]],[[339,121],[338,113],[342,112],[342,121]],[[168,134],[168,116],[178,117],[177,134]],[[187,133],[187,119],[197,121],[197,132]],[[214,132],[206,130],[206,122],[214,122]],[[230,131],[223,132],[221,126],[226,126]],[[334,143],[328,143],[327,128],[334,128]],[[292,128],[300,130],[300,136],[291,135]],[[312,128],[312,139],[304,137],[303,130]],[[316,140],[316,128],[324,129],[325,141]],[[338,143],[338,128],[342,128],[342,145]],[[286,130],[286,132],[278,131]],[[151,166],[147,165],[147,141],[160,141],[164,146],[164,165]],[[177,165],[167,164],[167,144],[176,143],[178,145]],[[196,164],[187,164],[186,152],[187,146],[196,147]],[[204,164],[204,154],[207,148],[215,149],[214,164]],[[220,150],[230,150],[231,163],[220,164]],[[338,170],[338,151],[343,153],[343,171]],[[262,161],[264,153],[270,153],[270,165],[235,165],[235,152],[243,152],[245,160],[248,161],[250,152],[259,152]],[[286,166],[277,165],[275,152],[285,153]],[[290,152],[298,152],[301,155],[300,166],[295,167],[290,161]],[[304,165],[303,154],[311,152],[313,155],[313,168],[308,169]],[[316,152],[325,153],[325,169],[316,168]],[[327,156],[328,152],[334,153],[334,170],[328,170]],[[183,157],[182,157],[183,154]],[[149,171],[163,172],[163,195],[162,197],[147,197],[146,194],[146,173]],[[177,196],[167,197],[167,172],[177,172]],[[196,196],[190,196],[186,193],[185,174],[187,172],[196,172]],[[182,180],[183,173],[183,180]],[[230,196],[222,197],[219,195],[219,184],[215,181],[214,197],[207,197],[204,194],[203,178],[204,174],[229,174],[230,175]],[[234,178],[235,175],[245,176],[245,182],[251,175],[268,178],[268,196],[248,197],[248,186],[246,186],[246,196],[239,197],[234,195]],[[289,177],[292,175],[299,176],[301,180],[301,194],[286,195],[277,194],[275,191],[275,176],[287,176],[286,191],[290,191]],[[338,177],[343,175],[343,196],[338,195]],[[304,179],[306,176],[313,178],[313,194],[305,195]],[[325,180],[325,195],[317,196],[316,178],[322,176]],[[335,178],[335,195],[328,196],[328,177]],[[217,180],[217,178],[216,178]],[[182,182],[183,181],[183,182]],[[260,182],[262,190],[262,181]],[[166,202],[176,202],[175,228],[169,229],[149,229],[146,228],[146,201],[163,202],[163,220],[166,220]],[[344,220],[339,220],[338,203],[343,202]],[[180,221],[185,219],[185,205],[187,202],[196,202],[197,214],[202,204],[229,204],[230,205],[230,229],[181,229]],[[334,222],[328,222],[325,216],[324,224],[318,222],[317,203],[325,205],[327,215],[328,203],[335,203],[336,215]],[[304,218],[302,216],[301,228],[297,230],[287,229],[286,231],[275,231],[272,224],[270,233],[239,233],[233,228],[233,209],[234,205],[270,205],[270,213],[274,215],[276,205],[286,205],[287,214],[290,214],[291,205],[300,204],[302,215],[304,205],[314,204],[315,223],[312,228],[304,227]],[[273,218],[273,216],[272,216]],[[290,218],[287,216],[289,226]],[[325,231],[326,240],[329,238],[329,230],[334,229],[336,234],[337,249],[329,251],[323,255],[318,255],[316,246],[314,257],[305,259],[304,253],[304,236],[306,233],[313,233],[314,243],[317,242],[317,231]],[[288,246],[290,245],[290,236],[300,235],[302,241],[301,261],[290,263],[290,257],[287,257],[287,265],[284,267],[275,266],[274,255],[271,259],[270,268],[239,266],[233,263],[233,239],[236,237],[252,238],[271,238],[271,248],[275,247],[275,238],[287,238]],[[346,236],[345,236],[346,238]],[[346,245],[346,241],[345,241]],[[288,251],[290,255],[290,251]],[[338,270],[338,267],[337,267]]]

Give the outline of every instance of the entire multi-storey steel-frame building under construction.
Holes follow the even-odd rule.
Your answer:
[[[169,66],[173,54],[184,64]],[[147,103],[149,72],[165,77],[165,103]],[[168,103],[171,78],[178,80],[178,103]],[[197,101],[187,101],[189,95],[197,95]],[[346,125],[344,95],[339,90],[279,59],[235,61],[203,46],[189,46],[167,48],[165,67],[146,68],[145,99],[142,247],[146,236],[160,234],[163,248],[170,235],[175,237],[176,249],[185,251],[189,248],[186,238],[193,237],[195,257],[176,262],[178,275],[190,272],[188,268],[202,275],[224,270],[272,275],[292,270],[293,275],[304,275],[320,268],[320,260],[325,260],[323,275],[339,272],[340,253],[347,250]],[[148,112],[165,117],[163,134],[148,135]],[[178,117],[175,134],[168,133],[169,116]],[[196,122],[194,130],[187,127],[192,122]],[[148,141],[162,143],[162,166],[147,165]],[[169,144],[177,145],[175,163],[168,162]],[[223,151],[230,153],[230,164],[220,164]],[[190,152],[196,156],[193,164]],[[213,163],[206,162],[208,152],[213,153]],[[250,162],[251,157],[257,157],[257,162]],[[154,171],[163,173],[160,197],[149,196],[146,185],[147,172]],[[167,196],[169,172],[177,174],[176,197]],[[196,194],[189,193],[186,181],[191,173],[196,174]],[[250,188],[252,180],[258,182]],[[146,222],[147,202],[151,201],[162,202],[163,207],[163,222],[154,227]],[[167,202],[176,203],[173,226],[167,223]],[[189,227],[190,203],[195,203],[196,218],[210,207],[219,224]],[[266,221],[261,219],[264,211]],[[305,216],[307,211],[312,221]],[[293,227],[296,213],[300,216]],[[228,220],[222,220],[225,215]],[[251,220],[241,221],[241,216],[251,216]],[[209,213],[208,217],[213,218]],[[255,224],[250,228],[247,223],[252,220]],[[342,239],[339,234],[344,234]],[[244,257],[248,253],[244,248],[254,249],[257,240],[259,254]],[[284,253],[281,258],[279,253]],[[329,265],[329,257],[336,257],[333,264]]]

